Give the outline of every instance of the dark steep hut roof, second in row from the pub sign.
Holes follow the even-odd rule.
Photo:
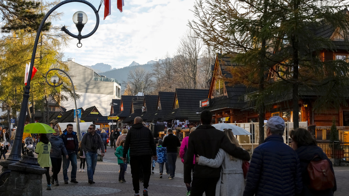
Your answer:
[[[162,119],[172,110],[174,92],[159,92],[158,100],[160,101],[160,104],[161,104],[161,110],[158,110],[156,108],[157,106],[157,102],[156,102],[154,114],[151,115],[147,119],[147,121]]]

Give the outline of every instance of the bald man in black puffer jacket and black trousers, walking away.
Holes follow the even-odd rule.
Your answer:
[[[157,160],[156,145],[153,134],[149,128],[142,124],[142,118],[136,117],[134,125],[130,128],[125,138],[123,159],[126,162],[126,155],[130,150],[130,165],[132,184],[135,195],[139,195],[139,171],[143,170],[143,196],[148,196],[148,186],[151,170],[151,156]]]

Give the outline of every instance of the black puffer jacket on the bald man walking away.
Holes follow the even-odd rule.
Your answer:
[[[149,128],[145,127],[142,123],[132,125],[125,138],[124,154],[122,157],[126,158],[128,149],[130,149],[130,157],[156,155],[156,145]]]

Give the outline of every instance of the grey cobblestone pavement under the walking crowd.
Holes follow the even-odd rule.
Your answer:
[[[9,154],[9,152],[8,152]],[[8,155],[7,154],[7,155]],[[2,160],[2,159],[1,159]],[[128,165],[127,174],[125,174],[125,183],[118,182],[119,165],[117,158],[113,154],[113,148],[107,147],[107,152],[103,162],[97,162],[96,171],[94,175],[95,184],[90,185],[87,179],[87,172],[79,172],[80,160],[77,161],[78,169],[76,173],[77,184],[70,183],[65,185],[63,183],[62,169],[58,174],[60,186],[52,185],[52,190],[46,190],[46,178],[43,175],[43,196],[80,196],[80,195],[104,195],[104,196],[132,196],[134,194],[131,178],[131,168]],[[1,167],[1,166],[0,166]],[[85,165],[85,169],[87,166]],[[69,170],[71,166],[69,167]],[[164,168],[165,169],[165,168]],[[70,170],[71,171],[71,170]],[[167,179],[169,175],[163,174],[163,178],[159,178],[158,164],[155,166],[155,174],[150,176],[149,195],[158,196],[172,196],[172,195],[186,195],[186,187],[183,182],[183,164],[180,159],[176,162],[176,175],[174,179]],[[334,167],[337,191],[334,196],[344,196],[349,194],[349,186],[347,185],[349,177],[349,167]],[[51,173],[51,172],[50,172]],[[140,182],[142,191],[142,183]]]

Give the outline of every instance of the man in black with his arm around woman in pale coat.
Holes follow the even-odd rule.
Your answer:
[[[250,160],[250,154],[246,150],[232,144],[222,131],[211,125],[212,113],[203,110],[200,115],[202,125],[198,126],[190,134],[188,150],[184,158],[184,183],[190,185],[191,171],[193,168],[194,155],[205,156],[214,159],[220,148],[230,155],[243,160]],[[191,196],[202,195],[214,196],[216,183],[221,175],[221,167],[212,168],[203,165],[195,165],[193,182],[191,185]]]

